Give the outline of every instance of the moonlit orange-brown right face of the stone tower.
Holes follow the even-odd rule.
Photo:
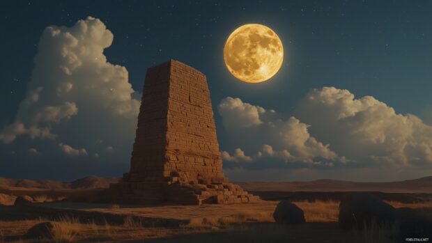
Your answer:
[[[165,170],[186,183],[226,181],[206,76],[178,61],[171,61],[167,122]]]

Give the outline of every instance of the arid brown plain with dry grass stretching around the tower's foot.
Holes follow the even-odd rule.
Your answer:
[[[45,242],[394,242],[398,231],[397,225],[362,231],[339,229],[339,198],[347,193],[345,189],[277,191],[269,184],[255,183],[261,189],[253,191],[252,183],[245,187],[261,196],[259,203],[149,206],[89,203],[100,190],[98,186],[70,189],[46,182],[13,183],[0,188],[0,242],[40,242],[26,233],[47,221],[53,222],[54,228],[49,235],[52,240],[46,238]],[[410,208],[432,219],[430,191],[373,194],[395,208]],[[17,196],[33,204],[14,206]],[[283,199],[304,211],[306,224],[275,223],[272,214]]]

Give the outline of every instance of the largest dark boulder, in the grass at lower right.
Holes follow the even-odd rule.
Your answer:
[[[394,219],[394,207],[369,193],[348,194],[339,204],[339,228],[346,230],[361,230],[372,224],[382,227],[393,224]]]

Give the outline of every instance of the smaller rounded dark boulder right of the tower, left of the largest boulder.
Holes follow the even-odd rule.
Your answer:
[[[281,201],[273,212],[273,218],[278,224],[302,224],[304,220],[303,210],[290,201]]]

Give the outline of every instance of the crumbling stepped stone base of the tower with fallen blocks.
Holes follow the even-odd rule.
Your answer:
[[[121,182],[111,185],[109,191],[115,203],[159,204],[173,203],[180,205],[254,203],[260,201],[243,191],[236,184],[227,182],[190,182],[185,184],[177,177],[165,178],[165,181],[128,181],[128,173]]]

